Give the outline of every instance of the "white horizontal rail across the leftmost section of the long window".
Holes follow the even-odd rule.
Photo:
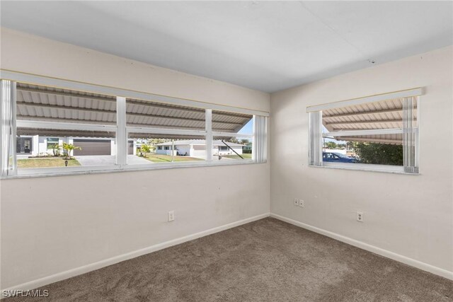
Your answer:
[[[42,122],[32,120],[18,120],[17,127],[23,128],[40,128],[40,129],[63,129],[63,130],[81,130],[81,131],[101,131],[101,132],[116,132],[116,126],[105,124],[82,124],[71,122]]]

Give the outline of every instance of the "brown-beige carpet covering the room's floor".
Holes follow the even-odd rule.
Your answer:
[[[4,301],[453,301],[453,282],[262,219]]]

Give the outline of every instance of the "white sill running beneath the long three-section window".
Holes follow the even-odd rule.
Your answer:
[[[1,177],[1,180],[18,179],[18,178],[45,178],[55,176],[68,176],[68,175],[88,175],[88,174],[102,174],[102,173],[118,173],[118,172],[134,172],[134,171],[148,171],[148,170],[164,170],[164,169],[179,169],[179,168],[200,168],[200,167],[219,167],[224,165],[250,165],[255,164],[255,161],[246,160],[239,163],[234,162],[194,162],[194,163],[154,163],[149,165],[104,165],[104,166],[91,166],[91,167],[71,167],[71,168],[31,168],[18,170],[18,175],[10,175]],[[264,163],[267,163],[265,161]]]

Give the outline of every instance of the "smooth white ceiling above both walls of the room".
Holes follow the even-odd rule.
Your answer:
[[[453,44],[452,1],[0,5],[6,28],[265,92]]]

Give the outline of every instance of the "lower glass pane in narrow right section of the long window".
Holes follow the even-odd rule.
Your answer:
[[[243,161],[252,158],[252,139],[249,137],[214,137],[212,141],[214,161]]]

